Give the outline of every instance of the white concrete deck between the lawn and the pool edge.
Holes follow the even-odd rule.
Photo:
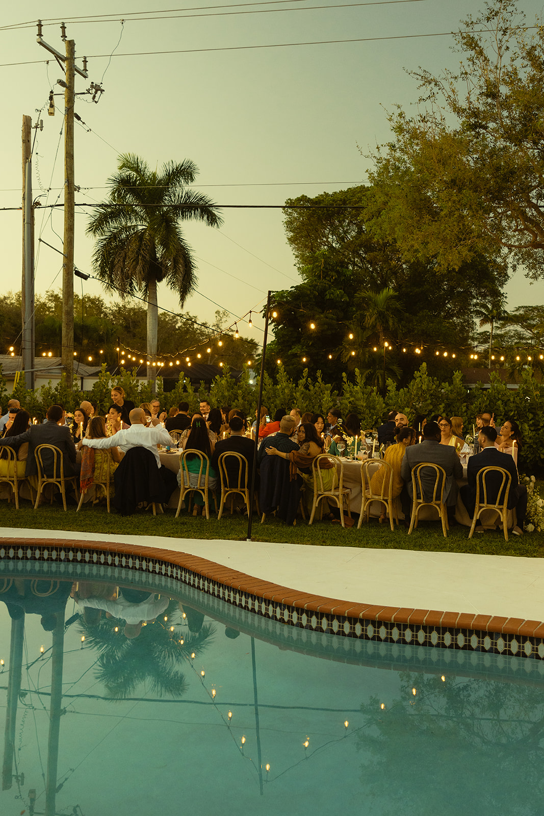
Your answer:
[[[360,604],[544,621],[544,558],[313,547],[0,528],[6,538],[124,542],[215,561],[284,587]]]

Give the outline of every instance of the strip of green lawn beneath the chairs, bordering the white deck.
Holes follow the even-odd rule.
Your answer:
[[[175,518],[175,511],[168,510],[162,516],[151,512],[137,512],[134,516],[122,517],[116,512],[109,515],[105,508],[83,508],[76,513],[75,508],[64,512],[57,505],[45,505],[34,511],[29,502],[21,502],[20,510],[14,505],[0,504],[0,526],[19,527],[33,530],[75,530],[88,533],[106,533],[108,537],[122,535],[160,535],[166,538],[182,539],[231,539],[245,541],[247,518],[229,513],[219,521],[216,517],[188,517],[184,512]],[[468,527],[455,526],[444,539],[440,522],[421,521],[418,529],[409,535],[404,526],[395,528],[388,524],[378,524],[378,520],[343,530],[340,524],[316,521],[312,526],[297,521],[288,527],[273,517],[267,517],[263,525],[255,515],[251,538],[255,542],[272,541],[293,544],[312,544],[327,547],[369,547],[378,549],[424,550],[427,552],[475,552],[480,555],[510,555],[544,557],[544,533],[526,533],[522,538],[511,535],[506,542],[502,532],[474,534],[468,538]]]

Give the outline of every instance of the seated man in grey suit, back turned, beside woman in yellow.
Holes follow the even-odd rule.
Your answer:
[[[453,524],[455,517],[455,503],[458,497],[458,486],[456,479],[462,479],[462,464],[461,459],[455,452],[455,448],[451,446],[440,445],[442,434],[436,422],[427,422],[423,428],[423,441],[421,445],[409,446],[406,448],[406,453],[402,464],[400,465],[400,476],[406,482],[406,489],[410,499],[414,498],[414,490],[412,486],[412,471],[422,462],[431,462],[437,464],[440,468],[444,468],[446,477],[444,484],[443,501],[448,511],[449,524]],[[425,501],[432,500],[432,494],[435,486],[436,471],[432,468],[423,469],[421,472],[421,481],[423,489],[423,499]],[[440,485],[441,487],[441,485]],[[418,497],[421,498],[421,497]],[[410,516],[409,503],[404,500],[402,510],[405,514],[405,519]]]

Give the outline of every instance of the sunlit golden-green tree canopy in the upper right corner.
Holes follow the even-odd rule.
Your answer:
[[[515,0],[487,0],[454,38],[458,70],[411,72],[417,112],[389,116],[369,173],[374,234],[440,269],[486,255],[542,277],[544,27]]]

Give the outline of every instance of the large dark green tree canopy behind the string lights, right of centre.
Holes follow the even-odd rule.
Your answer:
[[[507,275],[495,258],[475,253],[446,272],[434,258],[406,261],[393,240],[369,230],[365,211],[373,203],[374,190],[362,185],[286,202],[287,240],[303,283],[274,294],[270,352],[291,375],[307,367],[338,381],[358,367],[377,381],[383,364],[374,346],[384,339],[393,345],[390,374],[401,365],[409,375],[418,357],[397,348],[433,344],[458,353],[470,345],[476,306],[501,298]]]

